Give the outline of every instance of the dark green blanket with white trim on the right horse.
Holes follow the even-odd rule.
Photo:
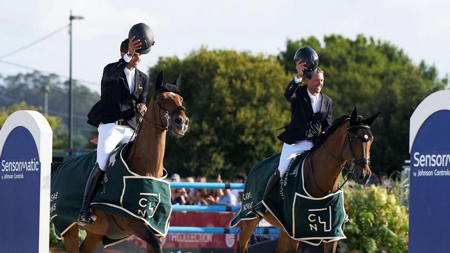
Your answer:
[[[343,229],[347,215],[342,191],[314,198],[305,189],[303,163],[308,154],[304,152],[292,160],[276,189],[263,203],[292,239],[312,245],[345,239]],[[266,183],[278,169],[279,161],[280,154],[276,154],[252,168],[245,182],[241,210],[230,226],[236,226],[240,220],[257,218],[252,208],[262,200]]]

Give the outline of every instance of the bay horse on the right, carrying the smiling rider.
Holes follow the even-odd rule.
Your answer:
[[[328,131],[320,135],[303,165],[304,186],[312,197],[320,198],[338,191],[338,181],[346,165],[353,171],[354,180],[359,185],[366,185],[371,175],[369,164],[373,136],[370,126],[379,113],[364,120],[358,116],[355,107],[351,117],[343,116],[335,120]],[[282,225],[271,212],[266,212],[263,219],[280,229],[275,252],[284,253],[286,249],[288,253],[297,252],[299,241],[290,238],[283,231]],[[261,218],[240,221],[237,253],[247,251],[249,239],[260,221]],[[323,242],[325,253],[336,252],[337,246],[338,241]]]

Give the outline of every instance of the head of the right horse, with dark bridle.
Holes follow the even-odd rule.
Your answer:
[[[349,161],[350,169],[354,170],[354,179],[359,185],[366,185],[370,175],[370,146],[373,135],[370,126],[378,117],[380,112],[374,116],[364,119],[358,116],[356,107],[350,116],[350,124],[347,128],[346,146],[343,150],[344,158]]]

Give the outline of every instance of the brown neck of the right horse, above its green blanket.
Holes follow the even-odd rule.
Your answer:
[[[324,147],[320,147],[313,152],[311,157],[313,176],[310,167],[311,160],[309,157],[305,160],[303,168],[305,187],[308,193],[313,197],[323,197],[325,196],[324,192],[327,191],[338,191],[338,181],[341,177],[339,172],[341,171],[341,164],[344,164],[345,162],[345,159],[342,156],[342,147],[345,142],[346,125],[348,125],[348,123],[345,123],[343,126],[336,129],[336,131],[328,136],[327,140],[324,142],[323,145],[326,147],[329,154],[324,150]],[[313,180],[316,180],[317,185]],[[318,187],[320,189],[318,189]]]

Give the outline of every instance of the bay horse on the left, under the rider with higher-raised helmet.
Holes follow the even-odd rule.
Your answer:
[[[179,86],[181,77],[173,84],[164,84],[161,72],[156,78],[155,93],[148,103],[147,112],[137,128],[134,142],[130,142],[123,157],[130,170],[141,176],[161,178],[163,176],[163,158],[166,146],[166,132],[175,137],[183,136],[188,128],[189,119],[182,106],[183,98],[167,89],[170,85]],[[166,87],[166,88],[164,88]],[[54,166],[52,166],[54,167]],[[84,189],[79,189],[83,191]],[[81,246],[78,245],[78,226],[75,224],[66,231],[65,249],[68,253],[94,252],[100,245],[108,229],[106,214],[95,209],[97,220],[93,225],[85,225],[87,236]],[[127,234],[137,236],[147,243],[147,252],[163,252],[161,238],[156,236],[142,220],[121,218],[113,215],[117,225]]]

